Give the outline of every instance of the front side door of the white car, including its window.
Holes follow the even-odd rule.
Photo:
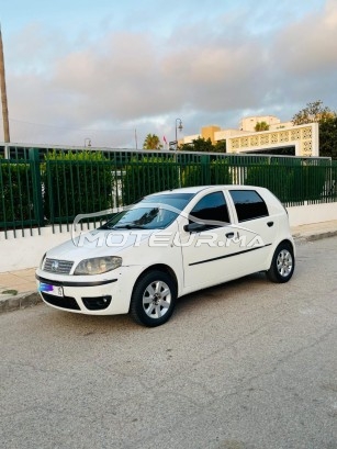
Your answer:
[[[187,226],[192,223],[195,231],[194,224],[190,229]],[[205,194],[190,211],[180,229],[186,292],[236,277],[239,269],[232,256],[237,248],[227,246],[236,231],[231,223],[231,210],[222,190]],[[204,228],[198,229],[198,224]]]

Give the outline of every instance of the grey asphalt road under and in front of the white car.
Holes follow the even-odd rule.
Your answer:
[[[37,305],[0,315],[5,449],[336,449],[337,237],[181,299],[148,329]]]

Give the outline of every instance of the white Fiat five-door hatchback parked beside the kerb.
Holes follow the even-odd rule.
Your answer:
[[[166,323],[187,293],[266,271],[291,279],[288,214],[267,189],[207,186],[143,198],[103,226],[46,252],[36,270],[45,303],[92,315]]]

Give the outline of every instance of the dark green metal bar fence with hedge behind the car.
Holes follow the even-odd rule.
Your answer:
[[[337,162],[328,158],[15,148],[0,158],[0,231],[4,236],[44,226],[69,228],[94,214],[166,189],[252,184],[287,206],[337,201]],[[106,212],[106,215],[109,212]],[[104,220],[104,217],[101,217]]]

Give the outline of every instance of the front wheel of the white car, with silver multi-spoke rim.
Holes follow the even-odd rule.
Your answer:
[[[164,271],[148,271],[134,287],[130,314],[144,326],[160,326],[171,317],[176,299],[177,287],[172,278]]]

